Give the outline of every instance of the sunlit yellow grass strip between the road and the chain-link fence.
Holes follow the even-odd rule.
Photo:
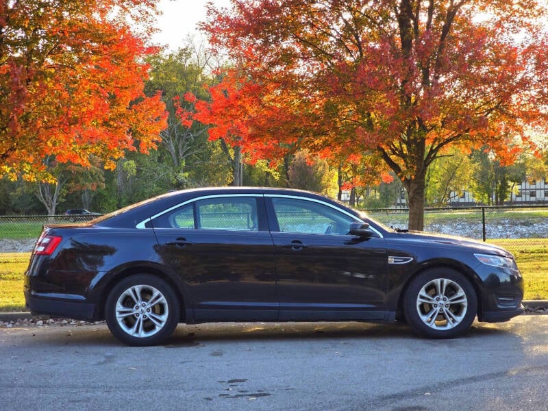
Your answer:
[[[548,245],[545,238],[489,242],[514,253],[525,280],[524,299],[548,299]],[[30,253],[0,253],[0,312],[25,310],[23,275]]]

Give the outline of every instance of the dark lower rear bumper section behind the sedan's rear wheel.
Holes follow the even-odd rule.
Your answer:
[[[95,320],[95,304],[52,298],[51,296],[31,295],[26,290],[25,300],[27,308],[33,314],[48,314],[84,321]]]

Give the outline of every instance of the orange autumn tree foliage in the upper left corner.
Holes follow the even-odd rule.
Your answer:
[[[155,148],[165,107],[143,93],[154,13],[149,0],[0,0],[0,175],[47,177],[51,155],[112,169]]]

